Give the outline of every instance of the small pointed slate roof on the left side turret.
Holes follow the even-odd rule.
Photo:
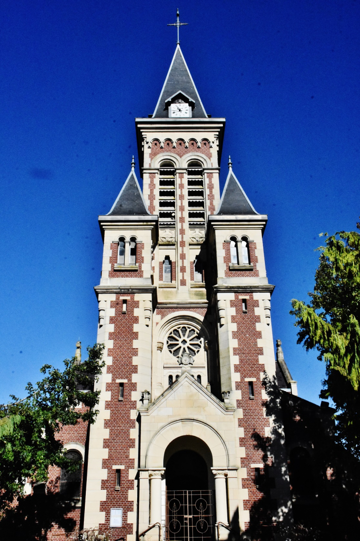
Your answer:
[[[135,171],[132,169],[107,216],[149,215]]]

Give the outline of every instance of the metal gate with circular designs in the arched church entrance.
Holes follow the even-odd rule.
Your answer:
[[[212,490],[168,490],[166,541],[214,539]]]

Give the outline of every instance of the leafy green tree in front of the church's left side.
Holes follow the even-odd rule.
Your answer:
[[[88,347],[88,359],[80,364],[76,357],[64,360],[63,371],[44,365],[44,378],[27,385],[27,398],[11,395],[11,403],[0,405],[0,508],[22,497],[28,478],[47,481],[50,465],[78,467],[64,455],[58,434],[62,426],[94,423],[100,392],[93,387],[104,366],[103,348]]]

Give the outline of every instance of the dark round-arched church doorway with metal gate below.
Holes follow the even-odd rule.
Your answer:
[[[167,541],[214,539],[212,453],[194,436],[173,440],[164,454]]]

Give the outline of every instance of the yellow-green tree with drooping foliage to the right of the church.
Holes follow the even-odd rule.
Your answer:
[[[326,364],[320,397],[335,404],[338,440],[360,458],[360,234],[325,233],[318,250],[310,304],[293,299],[290,313],[300,329],[298,344],[317,349]]]

